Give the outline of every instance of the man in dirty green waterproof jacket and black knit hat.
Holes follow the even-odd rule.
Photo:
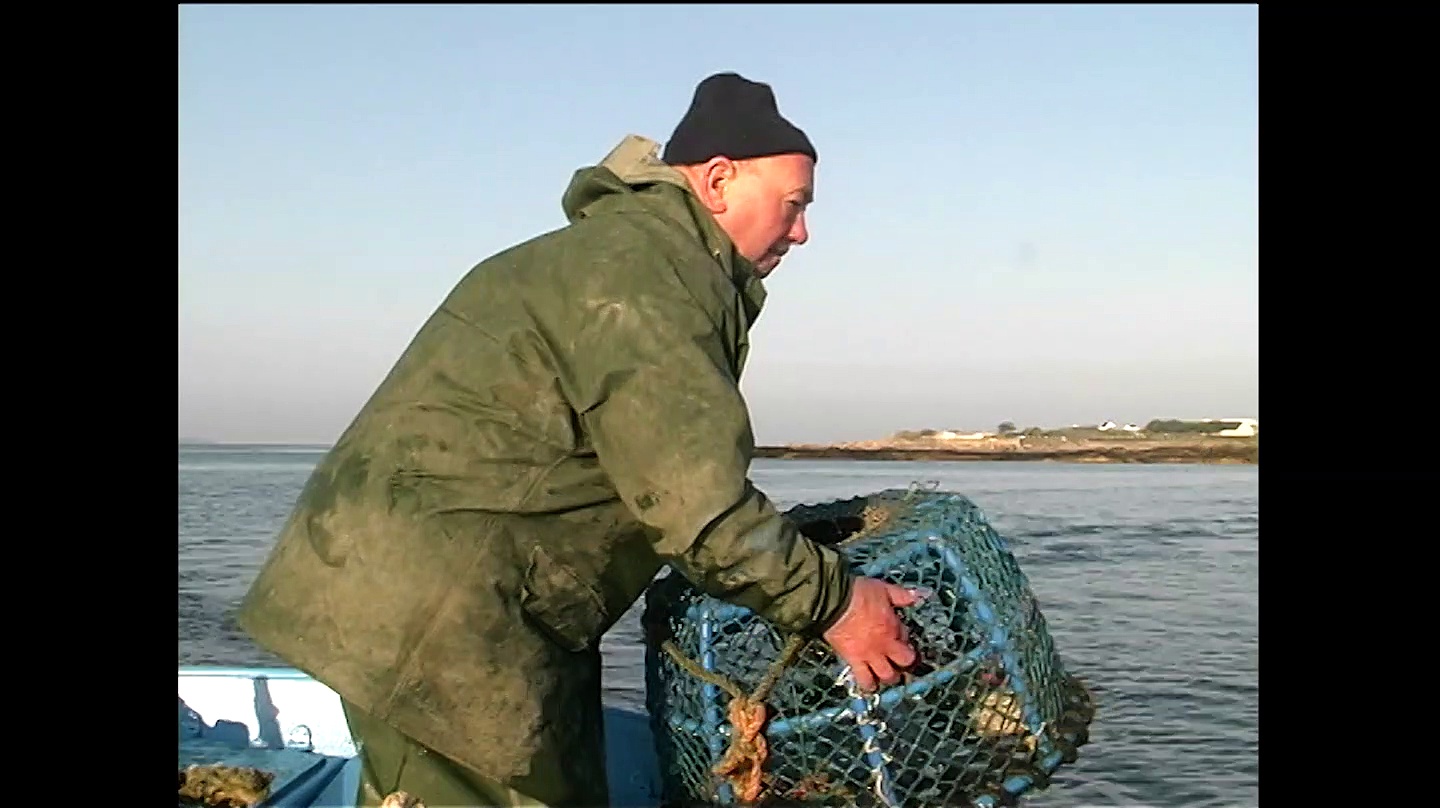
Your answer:
[[[913,663],[913,595],[747,480],[746,334],[815,158],[768,85],[703,81],[664,161],[577,171],[570,225],[475,266],[320,462],[239,619],[341,696],[366,804],[608,804],[599,641],[664,565],[861,686]]]

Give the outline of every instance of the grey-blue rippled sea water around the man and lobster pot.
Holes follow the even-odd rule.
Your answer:
[[[321,457],[180,446],[180,664],[284,664],[230,619]],[[782,507],[913,481],[1011,540],[1100,714],[1038,808],[1259,805],[1257,467],[760,459]],[[639,606],[606,637],[609,699],[644,709]]]

